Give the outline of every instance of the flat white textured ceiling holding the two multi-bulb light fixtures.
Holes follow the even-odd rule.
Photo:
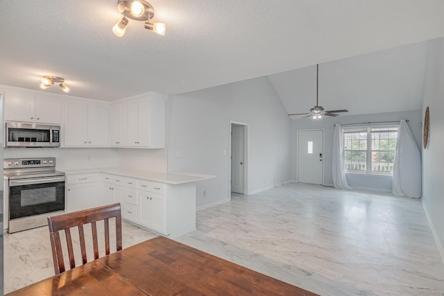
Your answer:
[[[53,75],[72,96],[180,94],[444,36],[441,0],[150,3],[165,36],[133,20],[114,36],[115,0],[1,0],[0,85]]]

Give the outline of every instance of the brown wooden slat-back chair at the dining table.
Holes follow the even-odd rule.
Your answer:
[[[63,261],[62,244],[60,242],[60,230],[65,230],[67,238],[67,250],[69,256],[69,265],[71,268],[76,267],[74,261],[74,249],[72,244],[71,232],[69,228],[78,227],[78,235],[80,238],[80,251],[83,264],[87,263],[87,252],[85,245],[85,233],[83,225],[91,223],[92,225],[92,241],[94,247],[94,259],[99,258],[99,243],[97,239],[96,222],[104,221],[105,230],[105,254],[110,254],[110,225],[109,218],[116,218],[116,241],[117,251],[122,250],[122,224],[120,204],[110,204],[103,207],[86,209],[84,211],[75,211],[73,213],[62,214],[58,216],[48,217],[49,235],[51,238],[51,249],[53,251],[54,271],[56,275],[65,272],[65,262]]]

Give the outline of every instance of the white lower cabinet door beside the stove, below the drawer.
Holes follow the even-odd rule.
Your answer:
[[[100,203],[100,190],[96,182],[68,184],[68,212],[99,207]]]

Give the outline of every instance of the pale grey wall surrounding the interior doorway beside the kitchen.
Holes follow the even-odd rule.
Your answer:
[[[167,116],[168,171],[216,175],[198,182],[197,207],[230,199],[230,121],[249,124],[249,192],[290,179],[290,121],[267,78],[170,96]]]

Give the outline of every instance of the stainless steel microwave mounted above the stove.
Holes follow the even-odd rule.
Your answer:
[[[60,125],[7,122],[6,147],[60,147]]]

